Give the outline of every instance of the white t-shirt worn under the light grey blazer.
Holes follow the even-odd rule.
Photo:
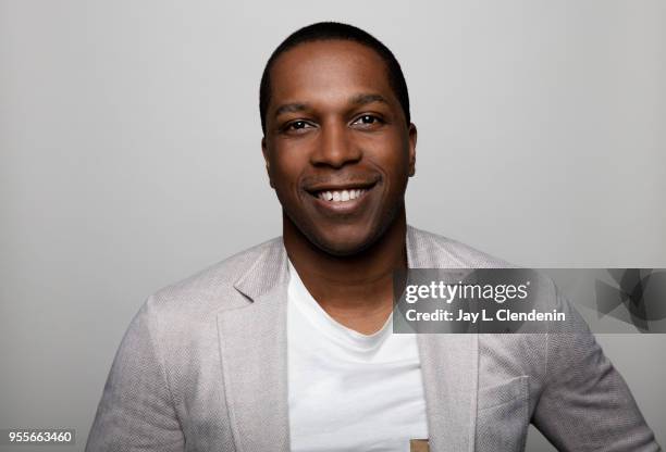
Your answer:
[[[289,262],[288,406],[294,452],[409,451],[428,438],[416,335],[333,319]]]

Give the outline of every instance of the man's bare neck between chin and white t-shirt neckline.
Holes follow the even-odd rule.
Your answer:
[[[407,267],[405,209],[363,251],[336,256],[312,244],[283,215],[284,246],[300,279],[324,311],[363,334],[380,329],[393,309],[393,273]]]

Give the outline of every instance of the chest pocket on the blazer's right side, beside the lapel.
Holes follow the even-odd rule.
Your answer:
[[[522,451],[529,426],[529,377],[479,390],[477,451]]]

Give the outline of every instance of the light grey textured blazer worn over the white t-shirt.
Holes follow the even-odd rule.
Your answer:
[[[407,259],[505,266],[412,227]],[[118,350],[86,451],[288,451],[287,281],[276,238],[150,297]],[[433,452],[522,451],[530,423],[564,451],[659,450],[589,332],[422,334],[418,346]]]

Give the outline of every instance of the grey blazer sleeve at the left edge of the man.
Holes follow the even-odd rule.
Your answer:
[[[115,354],[86,452],[185,450],[153,324],[148,299]]]

